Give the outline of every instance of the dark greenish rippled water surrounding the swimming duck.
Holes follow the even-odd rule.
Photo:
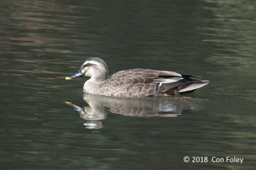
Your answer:
[[[0,11],[1,169],[255,168],[256,1],[3,0]],[[211,83],[190,99],[106,99],[103,127],[88,129],[65,101],[102,103],[84,99],[86,78],[64,78],[92,56],[109,73],[144,67]],[[118,113],[125,106],[144,115]],[[161,107],[168,117],[141,117]],[[234,156],[243,164],[211,162]]]

